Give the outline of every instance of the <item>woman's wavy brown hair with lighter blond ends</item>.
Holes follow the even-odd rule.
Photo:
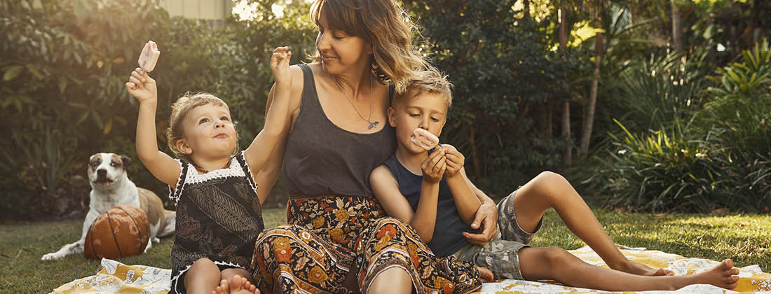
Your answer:
[[[413,76],[429,66],[412,46],[413,34],[421,38],[416,24],[394,0],[315,0],[311,21],[318,26],[322,15],[329,28],[372,44],[372,72],[378,82],[392,82],[396,92],[404,92]],[[318,51],[311,60],[321,62]]]

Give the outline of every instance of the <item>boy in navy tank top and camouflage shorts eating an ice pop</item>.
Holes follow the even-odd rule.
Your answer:
[[[436,70],[423,72],[396,95],[388,109],[389,124],[396,128],[396,152],[369,179],[385,211],[412,226],[436,256],[456,256],[490,269],[497,278],[552,279],[609,291],[679,289],[695,283],[736,287],[739,270],[732,269],[730,259],[690,276],[671,276],[626,259],[581,196],[553,172],[541,173],[500,201],[497,238],[485,246],[469,244],[464,236],[472,231],[469,224],[480,202],[463,169],[463,154],[446,144],[426,152],[411,140],[417,128],[439,136],[451,102],[450,84]],[[527,246],[549,208],[611,269],[591,266],[564,249]]]

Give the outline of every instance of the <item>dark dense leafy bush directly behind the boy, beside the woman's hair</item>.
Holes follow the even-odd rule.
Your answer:
[[[502,196],[560,169],[571,142],[553,118],[581,52],[552,50],[553,19],[524,16],[512,0],[404,3],[423,27],[423,52],[455,85],[442,141],[463,152],[476,185]]]

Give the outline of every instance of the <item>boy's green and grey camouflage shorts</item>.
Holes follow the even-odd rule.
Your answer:
[[[473,262],[476,266],[490,269],[495,279],[523,279],[520,272],[518,252],[533,239],[543,219],[538,222],[535,231],[525,232],[517,223],[514,214],[514,195],[512,192],[498,202],[498,235],[485,246],[469,244],[455,252],[458,261]]]

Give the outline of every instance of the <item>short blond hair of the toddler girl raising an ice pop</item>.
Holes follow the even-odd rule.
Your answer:
[[[217,96],[206,92],[186,92],[182,97],[177,99],[177,102],[174,102],[174,104],[171,105],[171,117],[169,118],[169,128],[166,129],[166,139],[171,152],[185,162],[193,162],[190,159],[190,156],[187,156],[187,154],[181,152],[180,149],[177,149],[177,141],[184,136],[185,116],[187,116],[187,113],[190,112],[190,110],[208,104],[224,106],[228,113],[231,112],[231,109],[227,107],[227,103],[222,101],[222,99],[217,98]],[[238,139],[238,132],[236,132],[236,142]],[[237,154],[237,150],[237,148],[233,150],[233,155]]]

